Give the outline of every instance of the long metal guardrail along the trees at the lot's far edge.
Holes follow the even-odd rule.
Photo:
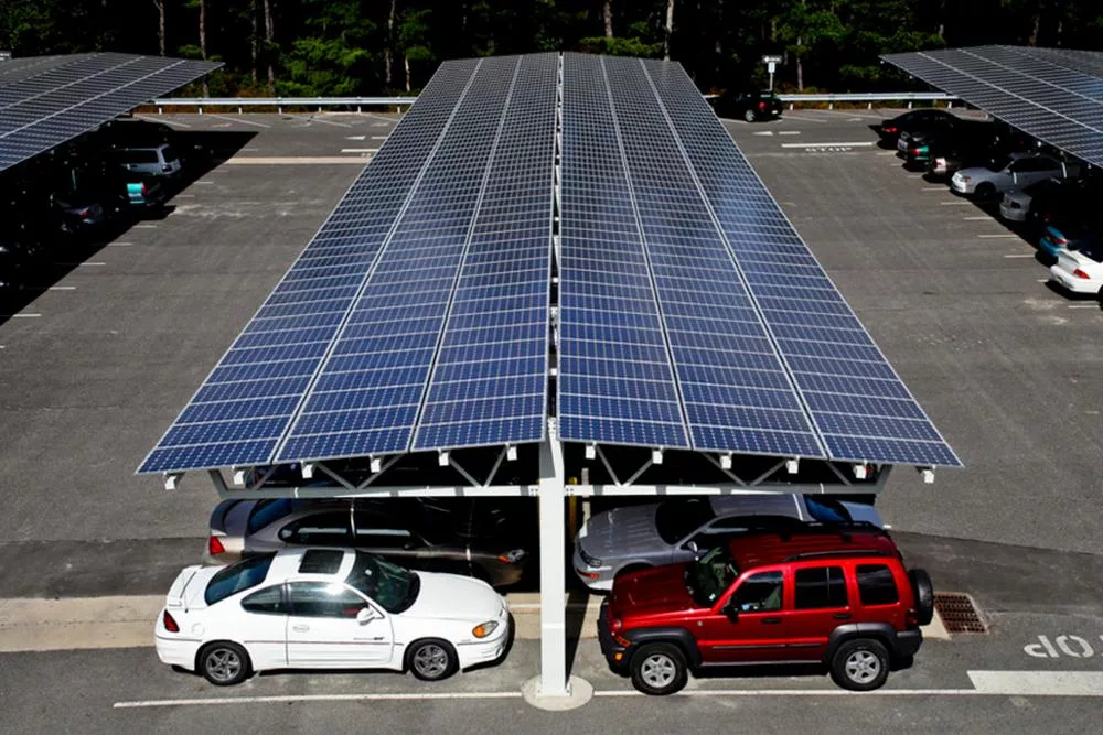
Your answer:
[[[710,95],[706,95],[708,97]],[[827,102],[834,108],[835,102],[866,102],[872,108],[874,102],[906,101],[909,109],[914,102],[946,102],[953,106],[959,97],[941,91],[895,91],[895,93],[842,93],[821,95],[778,95],[783,102],[789,102],[793,109],[797,102]],[[246,107],[275,107],[280,112],[285,107],[317,107],[321,111],[325,107],[354,107],[361,111],[364,107],[404,107],[413,105],[417,97],[167,97],[154,99],[150,104],[157,106],[160,114],[165,107],[195,107],[202,115],[204,107],[236,107],[242,114]]]

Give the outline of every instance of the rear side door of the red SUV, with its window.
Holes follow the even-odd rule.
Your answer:
[[[832,631],[854,620],[846,569],[838,562],[810,562],[794,566],[792,576],[793,608],[785,620],[786,653],[794,661],[820,661],[827,652]]]

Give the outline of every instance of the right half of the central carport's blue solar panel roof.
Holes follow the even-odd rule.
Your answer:
[[[606,99],[602,90],[572,96],[575,78],[603,86]],[[658,314],[651,334],[665,339],[664,367],[676,376],[693,448],[957,464],[681,66],[568,54],[564,79],[565,439],[617,441],[625,422],[639,420],[607,400],[651,385],[615,375],[608,357],[586,350],[593,311],[629,320],[635,304],[647,304],[636,311]],[[596,142],[610,127],[615,143]],[[572,206],[574,179],[592,177],[586,166],[593,145],[619,150],[627,192],[602,180],[580,187]],[[631,214],[588,221],[591,210],[615,212],[620,201],[633,204]],[[627,249],[603,241],[609,228],[635,235],[624,241],[644,252],[631,275],[607,257]],[[595,278],[602,285],[596,302],[578,288]],[[617,332],[625,347],[613,355],[640,348],[636,334]],[[658,371],[660,354],[651,354]],[[654,412],[651,398],[631,402],[633,411],[644,404]],[[673,412],[664,418],[677,421]]]

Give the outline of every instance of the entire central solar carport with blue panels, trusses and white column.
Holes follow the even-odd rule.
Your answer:
[[[559,696],[565,497],[959,464],[682,67],[549,53],[441,65],[139,472],[538,497]]]

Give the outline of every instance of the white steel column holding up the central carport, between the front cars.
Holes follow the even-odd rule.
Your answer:
[[[567,548],[563,446],[555,420],[540,446],[540,696],[569,696],[567,681]]]

